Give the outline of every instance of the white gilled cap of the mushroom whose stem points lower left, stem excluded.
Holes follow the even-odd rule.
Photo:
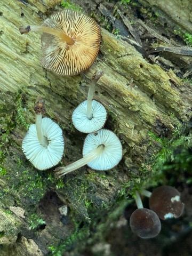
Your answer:
[[[122,144],[117,135],[107,129],[101,129],[86,136],[83,145],[83,156],[90,154],[104,145],[103,152],[87,165],[97,171],[106,171],[116,166],[122,159]]]

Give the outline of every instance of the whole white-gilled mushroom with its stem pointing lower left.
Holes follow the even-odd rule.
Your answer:
[[[55,169],[55,175],[61,177],[69,172],[88,165],[93,170],[106,171],[116,166],[123,156],[122,145],[117,135],[107,129],[86,136],[83,145],[83,158],[65,167]]]

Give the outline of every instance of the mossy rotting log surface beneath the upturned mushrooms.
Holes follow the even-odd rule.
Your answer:
[[[55,7],[59,3],[58,0],[47,0],[44,4],[2,0],[0,5],[0,140],[3,154],[0,167],[6,172],[0,176],[0,244],[4,246],[2,253],[12,248],[10,255],[22,255],[26,248],[27,255],[46,254],[48,246],[57,246],[60,239],[72,234],[74,224],[70,217],[65,225],[60,220],[58,207],[62,204],[68,205],[76,221],[82,219],[89,225],[91,220],[85,199],[91,202],[94,211],[98,211],[103,204],[110,206],[115,202],[125,183],[134,184],[144,177],[148,182],[152,173],[148,163],[162,147],[148,133],[169,140],[192,116],[191,87],[182,84],[172,71],[166,72],[151,64],[133,45],[117,39],[105,29],[101,29],[97,61],[87,72],[74,77],[57,77],[43,69],[41,35],[21,35],[18,28],[41,24],[46,15],[52,13],[52,8],[59,9]],[[71,113],[85,100],[90,78],[96,70],[103,71],[104,75],[99,79],[94,98],[105,105],[108,111],[106,127],[121,139],[124,157],[109,172],[94,174],[83,167],[63,178],[64,187],[56,189],[57,184],[49,181],[53,169],[37,172],[22,153],[21,142],[26,128],[17,119],[18,108],[22,108],[27,124],[34,123],[33,104],[36,96],[42,95],[47,116],[63,129],[66,146],[62,162],[71,163],[81,157],[85,138],[71,125]],[[32,189],[30,179],[36,175],[41,179],[41,187]],[[25,182],[27,185],[23,186]],[[37,183],[37,179],[34,182]],[[42,198],[50,204],[41,201]],[[21,207],[24,215],[7,214],[11,206]],[[34,213],[41,213],[46,221],[46,227],[38,234],[30,228],[30,217]],[[25,237],[34,239],[32,251]],[[18,245],[15,241],[19,241]]]

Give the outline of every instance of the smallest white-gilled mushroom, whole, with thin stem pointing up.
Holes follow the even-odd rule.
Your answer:
[[[107,111],[98,101],[93,100],[95,84],[103,75],[102,72],[96,72],[92,77],[92,82],[87,94],[87,100],[77,106],[72,114],[72,122],[75,128],[84,133],[92,133],[100,130],[107,120]]]

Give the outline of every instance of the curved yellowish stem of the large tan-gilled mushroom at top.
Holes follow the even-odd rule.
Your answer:
[[[28,33],[29,31],[31,32],[43,32],[47,34],[51,34],[53,36],[56,36],[60,39],[62,42],[66,42],[68,45],[73,45],[75,43],[74,39],[67,36],[64,34],[62,31],[50,27],[45,27],[45,26],[27,26],[26,28],[20,28],[20,33]]]

